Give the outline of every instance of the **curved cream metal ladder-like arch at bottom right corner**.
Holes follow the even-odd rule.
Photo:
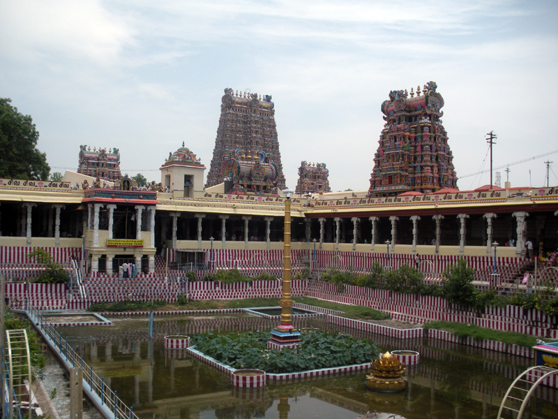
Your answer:
[[[511,383],[506,395],[504,395],[497,419],[504,418],[504,416],[502,416],[504,411],[515,412],[517,416],[514,417],[516,419],[521,419],[534,390],[545,378],[554,374],[558,374],[558,369],[543,366],[531,367],[522,372],[518,378],[515,378],[513,383]]]

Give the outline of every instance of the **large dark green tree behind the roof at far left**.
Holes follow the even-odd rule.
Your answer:
[[[39,133],[30,115],[0,98],[0,177],[47,180],[47,155],[36,149]]]

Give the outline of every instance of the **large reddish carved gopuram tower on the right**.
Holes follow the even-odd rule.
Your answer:
[[[420,86],[410,94],[407,89],[393,90],[382,103],[386,124],[374,155],[368,196],[457,188],[448,134],[440,119],[444,98],[436,88],[435,82],[428,82],[422,94]]]

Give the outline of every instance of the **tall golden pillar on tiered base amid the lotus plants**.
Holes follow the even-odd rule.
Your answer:
[[[281,307],[281,324],[271,330],[271,341],[274,347],[293,346],[301,340],[301,333],[291,323],[291,196],[292,189],[283,190],[285,195],[285,233],[283,247],[283,281]]]

